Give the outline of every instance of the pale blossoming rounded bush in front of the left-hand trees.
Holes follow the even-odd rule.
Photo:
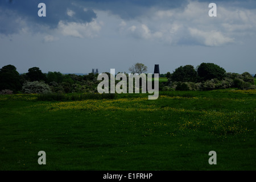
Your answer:
[[[39,81],[26,82],[25,84],[23,84],[22,90],[24,93],[50,93],[51,92],[49,85]]]

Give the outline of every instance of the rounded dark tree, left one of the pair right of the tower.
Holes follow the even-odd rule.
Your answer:
[[[192,65],[185,65],[184,67],[176,68],[174,73],[170,76],[172,81],[181,82],[195,82],[197,78],[197,72]]]

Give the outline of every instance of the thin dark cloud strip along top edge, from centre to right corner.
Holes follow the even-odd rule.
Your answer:
[[[155,9],[167,10],[167,9],[184,9],[193,0],[180,0],[180,1],[170,1],[170,0],[94,0],[94,1],[84,1],[80,0],[77,2],[83,3],[85,6],[108,10],[112,14],[120,16],[122,19],[134,19],[141,16],[147,12],[148,9],[154,7]],[[234,1],[234,0],[195,0],[197,2],[210,3],[214,2],[217,5],[235,6],[245,9],[255,9],[256,1],[245,0],[245,1]]]

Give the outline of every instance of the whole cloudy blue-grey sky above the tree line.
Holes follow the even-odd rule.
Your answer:
[[[39,3],[46,16],[38,16]],[[209,16],[216,3],[217,16]],[[0,68],[173,72],[214,63],[256,74],[256,1],[0,0]]]

